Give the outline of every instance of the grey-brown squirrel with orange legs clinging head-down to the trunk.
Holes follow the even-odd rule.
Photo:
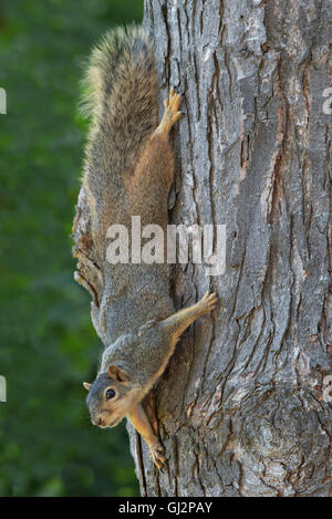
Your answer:
[[[144,29],[108,31],[94,48],[84,84],[84,113],[91,118],[82,183],[91,212],[93,247],[103,273],[98,330],[105,345],[95,381],[84,382],[91,419],[114,427],[127,417],[147,442],[155,465],[164,448],[142,401],[165,371],[181,333],[215,309],[205,293],[175,312],[167,262],[110,263],[107,228],[155,224],[166,236],[174,153],[168,134],[181,116],[181,97],[170,89],[158,124],[153,45]]]

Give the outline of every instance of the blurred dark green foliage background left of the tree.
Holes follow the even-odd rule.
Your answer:
[[[102,344],[70,239],[85,123],[79,82],[110,27],[143,0],[1,0],[0,496],[136,496],[125,423],[90,423]]]

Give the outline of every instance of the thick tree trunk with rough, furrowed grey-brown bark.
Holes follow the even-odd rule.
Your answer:
[[[184,94],[170,222],[226,225],[227,256],[218,277],[174,268],[177,309],[221,307],[154,391],[164,470],[129,427],[143,495],[331,494],[331,18],[329,0],[145,0],[160,106]]]

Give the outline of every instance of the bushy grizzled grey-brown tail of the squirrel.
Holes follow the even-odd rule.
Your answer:
[[[143,28],[108,31],[83,80],[82,112],[92,120],[87,159],[107,156],[113,175],[131,168],[157,126],[156,95],[154,55]]]

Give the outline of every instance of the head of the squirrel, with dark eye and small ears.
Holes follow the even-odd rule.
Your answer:
[[[98,427],[115,427],[137,403],[137,390],[128,374],[112,364],[100,373],[93,384],[83,383],[89,391],[86,404],[91,421]]]

